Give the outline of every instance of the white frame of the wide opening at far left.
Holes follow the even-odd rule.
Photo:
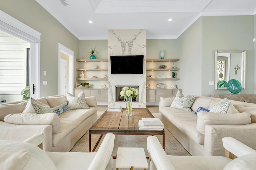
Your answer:
[[[41,33],[0,10],[0,29],[30,43],[30,96],[40,98],[40,41]],[[35,92],[33,94],[33,84]]]

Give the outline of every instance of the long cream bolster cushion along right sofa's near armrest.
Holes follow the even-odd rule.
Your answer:
[[[249,113],[222,114],[206,111],[197,113],[196,130],[204,134],[205,125],[246,125],[250,124]]]

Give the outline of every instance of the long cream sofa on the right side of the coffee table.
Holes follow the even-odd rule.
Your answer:
[[[213,120],[213,123],[204,124],[205,122],[201,122],[203,118],[199,119],[203,114],[200,113],[200,116],[196,115],[195,111],[199,107],[209,109],[222,99],[196,96],[190,107],[192,111],[170,107],[173,100],[174,98],[160,98],[160,119],[164,123],[165,128],[172,133],[190,154],[197,156],[224,156],[222,138],[229,136],[256,150],[256,104],[231,101],[226,114],[216,114],[218,117],[216,117],[216,120]],[[233,119],[233,116],[239,116],[240,113],[247,116],[247,121],[248,113],[250,113],[249,123],[235,125],[236,121]],[[239,119],[239,117],[236,117],[236,119]],[[241,118],[241,121],[244,121],[244,118]],[[198,131],[198,126],[200,125],[204,133]]]

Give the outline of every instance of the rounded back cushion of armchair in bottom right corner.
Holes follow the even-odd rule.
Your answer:
[[[255,170],[256,154],[248,154],[231,160],[223,170]]]

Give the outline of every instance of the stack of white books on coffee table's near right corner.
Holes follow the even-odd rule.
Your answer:
[[[163,130],[164,123],[159,118],[142,118],[138,122],[139,129],[144,130]]]

